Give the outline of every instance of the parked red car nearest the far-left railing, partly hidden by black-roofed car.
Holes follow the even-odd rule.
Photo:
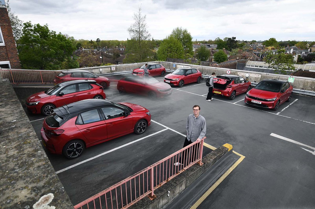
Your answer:
[[[94,80],[103,88],[109,87],[111,84],[108,78],[94,75],[93,73],[90,73],[89,71],[86,70],[61,71],[60,74],[56,75],[56,78],[54,79],[54,84],[74,80]]]

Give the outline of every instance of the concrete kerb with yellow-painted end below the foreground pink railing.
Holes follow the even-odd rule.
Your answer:
[[[187,187],[198,179],[204,172],[206,172],[212,165],[214,165],[220,158],[228,152],[232,152],[232,145],[225,144],[218,147],[214,151],[207,154],[203,159],[203,165],[193,165],[185,172],[171,179],[162,187],[154,190],[157,196],[155,199],[143,198],[135,205],[129,207],[130,209],[156,209],[164,208],[177,196],[179,196]]]

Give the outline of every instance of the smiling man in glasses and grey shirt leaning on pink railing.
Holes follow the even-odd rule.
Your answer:
[[[190,114],[186,121],[187,136],[185,138],[183,148],[192,144],[195,141],[199,142],[206,135],[206,119],[204,119],[204,117],[199,114],[200,112],[199,105],[194,105],[192,107],[192,110],[193,110],[193,114]],[[195,151],[193,151],[194,156],[193,156],[193,159],[190,160],[191,162],[196,160],[198,148],[199,148],[199,144],[195,146]],[[186,159],[187,159],[187,152],[185,153],[184,156],[181,156],[178,162],[174,163],[174,165],[178,166],[178,165],[184,164],[186,162]]]

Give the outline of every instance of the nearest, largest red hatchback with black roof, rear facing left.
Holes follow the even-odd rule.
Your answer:
[[[149,110],[140,105],[86,99],[54,109],[43,121],[41,137],[49,152],[74,159],[89,146],[143,134],[150,124]]]

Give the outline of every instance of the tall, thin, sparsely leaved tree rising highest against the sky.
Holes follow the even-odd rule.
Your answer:
[[[134,52],[139,55],[139,59],[135,60],[135,62],[142,62],[146,59],[146,51],[149,50],[147,47],[144,47],[144,42],[150,39],[151,34],[146,29],[146,15],[142,16],[141,7],[139,7],[138,13],[134,13],[133,19],[135,22],[128,28],[128,33],[131,39],[135,40],[137,43],[137,51]]]

